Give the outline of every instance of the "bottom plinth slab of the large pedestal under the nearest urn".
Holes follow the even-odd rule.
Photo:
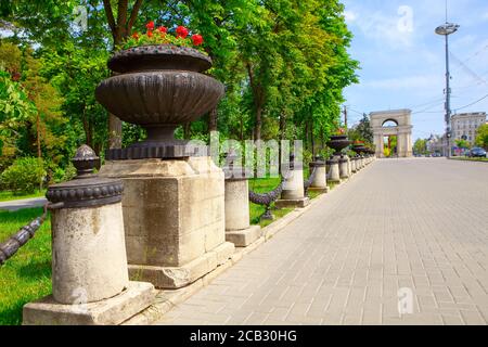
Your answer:
[[[232,256],[234,249],[233,243],[224,242],[181,267],[129,264],[129,277],[131,280],[151,282],[157,288],[181,288],[224,264]]]

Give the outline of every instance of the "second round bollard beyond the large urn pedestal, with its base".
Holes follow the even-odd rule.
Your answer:
[[[283,184],[281,198],[274,203],[278,208],[305,207],[310,200],[305,196],[304,169],[300,165],[291,168]]]

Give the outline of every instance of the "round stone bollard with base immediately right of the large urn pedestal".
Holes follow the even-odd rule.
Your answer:
[[[261,228],[249,223],[247,179],[226,179],[226,240],[237,247],[246,247],[260,236]]]

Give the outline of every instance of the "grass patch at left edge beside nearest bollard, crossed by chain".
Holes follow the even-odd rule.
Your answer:
[[[0,210],[0,243],[42,214],[42,208]],[[25,304],[51,294],[51,222],[44,221],[18,252],[0,267],[0,325],[22,323]]]

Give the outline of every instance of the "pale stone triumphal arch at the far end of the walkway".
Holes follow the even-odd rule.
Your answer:
[[[397,137],[397,154],[399,157],[412,156],[412,124],[410,110],[380,111],[370,113],[371,128],[373,129],[376,156],[384,157],[383,139],[387,136]],[[396,127],[384,127],[393,120]]]

